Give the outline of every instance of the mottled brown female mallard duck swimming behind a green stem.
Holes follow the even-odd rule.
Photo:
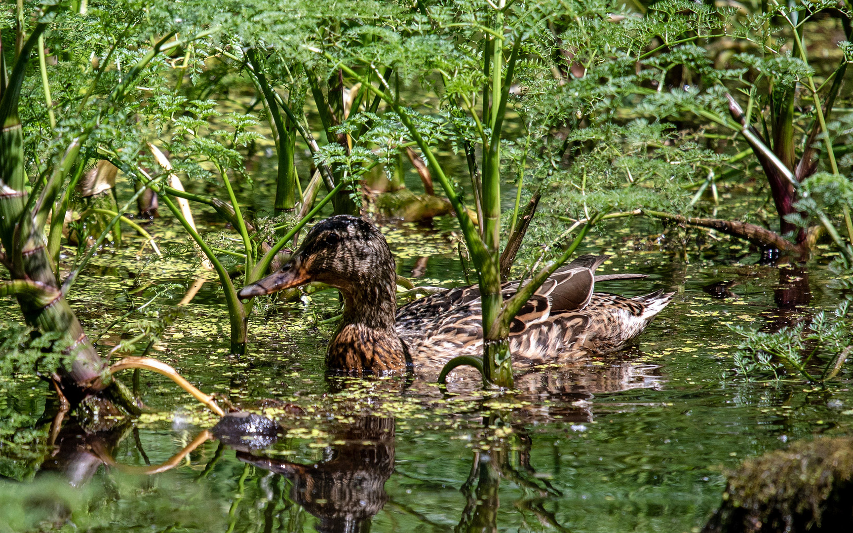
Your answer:
[[[514,362],[537,364],[618,351],[635,339],[675,293],[624,298],[595,293],[595,281],[645,277],[595,277],[607,256],[581,256],[554,272],[510,328]],[[373,224],[349,215],[317,223],[281,269],[243,287],[241,299],[321,281],[337,287],[344,313],[328,345],[327,368],[345,374],[385,374],[414,366],[441,368],[451,358],[482,355],[480,293],[458,287],[397,309],[397,274],[385,237]],[[508,298],[519,282],[506,283]]]

